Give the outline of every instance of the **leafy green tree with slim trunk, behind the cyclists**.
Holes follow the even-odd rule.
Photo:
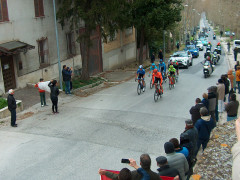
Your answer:
[[[131,6],[133,25],[140,34],[139,64],[144,42],[153,41],[155,31],[166,30],[181,20],[182,0],[136,0]]]

